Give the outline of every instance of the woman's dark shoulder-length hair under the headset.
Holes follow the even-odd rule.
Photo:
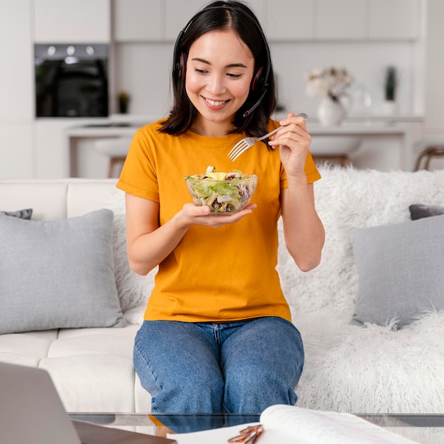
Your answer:
[[[189,48],[192,43],[201,35],[211,30],[233,30],[236,35],[248,46],[255,58],[255,70],[257,73],[260,67],[265,67],[263,71],[268,72],[265,85],[266,91],[260,104],[244,117],[245,111],[252,108],[259,100],[261,92],[252,91],[245,104],[235,113],[233,125],[235,129],[232,133],[242,133],[257,136],[267,133],[267,124],[276,106],[276,91],[274,74],[270,60],[270,50],[267,40],[262,31],[255,14],[240,1],[213,1],[201,9],[189,21],[187,26],[181,31],[174,46],[174,60],[172,67],[172,91],[173,105],[170,116],[162,123],[160,131],[171,135],[183,134],[191,128],[197,111],[187,96],[185,90],[185,75],[182,75],[182,64],[180,57],[183,54],[186,63]],[[262,75],[262,72],[261,72]],[[255,74],[253,75],[253,79]],[[253,80],[252,79],[252,80]]]

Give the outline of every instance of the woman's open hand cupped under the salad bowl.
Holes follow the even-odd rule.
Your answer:
[[[227,223],[235,223],[240,221],[241,218],[247,214],[251,214],[253,209],[256,208],[256,204],[250,204],[245,206],[245,209],[238,211],[234,214],[223,213],[214,216],[210,214],[209,206],[196,206],[194,204],[184,204],[182,208],[182,223],[186,223],[188,226],[192,225],[205,225],[212,228],[218,228],[226,225]]]

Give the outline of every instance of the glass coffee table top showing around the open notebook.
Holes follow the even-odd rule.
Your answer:
[[[70,418],[155,436],[188,433],[259,421],[259,414],[72,413]],[[444,443],[444,414],[357,414],[370,423],[421,444]]]

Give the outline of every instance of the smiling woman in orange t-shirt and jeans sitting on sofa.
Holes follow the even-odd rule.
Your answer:
[[[118,182],[131,268],[147,274],[159,266],[135,338],[135,370],[153,413],[295,404],[304,348],[275,267],[281,214],[299,268],[321,260],[312,183],[320,175],[304,118],[270,120],[270,52],[257,18],[238,1],[209,4],[182,30],[172,87],[170,115],[137,131]],[[228,159],[240,138],[279,124],[272,140]],[[183,177],[209,165],[257,174],[252,204],[224,216],[192,204]]]

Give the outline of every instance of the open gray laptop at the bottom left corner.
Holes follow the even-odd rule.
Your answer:
[[[46,370],[0,362],[0,443],[173,444],[176,441],[71,421]]]

